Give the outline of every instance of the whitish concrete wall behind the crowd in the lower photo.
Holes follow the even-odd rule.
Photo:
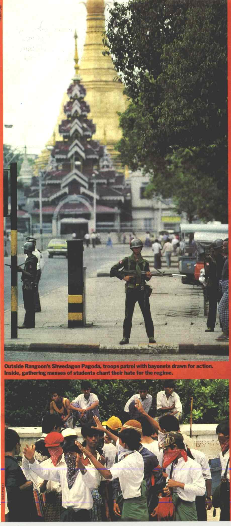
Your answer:
[[[219,457],[220,453],[220,446],[217,440],[216,427],[217,423],[193,424],[192,439],[194,442],[194,447],[195,449],[198,449],[199,451],[205,453],[208,460]],[[23,447],[26,443],[31,445],[42,436],[41,427],[25,427],[13,429],[17,431],[19,437],[21,438],[21,451],[23,451]],[[180,429],[189,436],[189,424],[182,424],[182,426],[180,426]],[[75,431],[77,437],[79,437],[80,439],[79,441],[82,442],[83,439],[81,437],[81,428],[76,427]]]

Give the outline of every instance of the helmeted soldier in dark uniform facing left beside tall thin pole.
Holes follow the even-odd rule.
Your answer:
[[[33,255],[34,244],[31,241],[24,243],[23,249],[27,258],[24,269],[18,267],[17,271],[22,272],[23,302],[26,313],[23,325],[19,325],[18,329],[33,329],[35,327],[34,294],[38,259]]]

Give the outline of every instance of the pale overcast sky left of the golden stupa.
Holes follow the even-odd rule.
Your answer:
[[[63,94],[74,75],[75,29],[81,58],[86,32],[84,2],[4,2],[4,124],[13,124],[13,128],[4,128],[4,143],[19,149],[26,145],[28,154],[38,154],[51,137]]]

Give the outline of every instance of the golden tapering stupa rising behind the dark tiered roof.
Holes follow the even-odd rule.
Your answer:
[[[115,158],[114,146],[122,136],[117,112],[125,111],[127,97],[123,95],[123,84],[114,80],[116,72],[111,57],[103,55],[104,0],[87,0],[86,9],[86,39],[79,74],[86,88],[89,118],[96,124],[94,139],[106,144]]]

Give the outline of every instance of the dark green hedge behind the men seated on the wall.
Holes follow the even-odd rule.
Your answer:
[[[92,391],[99,398],[101,420],[113,414],[124,422],[124,406],[128,398],[138,392],[138,380],[92,380]],[[147,380],[153,396],[149,411],[156,415],[156,395],[163,390],[162,380]],[[74,400],[81,393],[81,380],[6,380],[5,420],[13,427],[41,426],[49,412],[51,392]],[[229,417],[228,380],[175,380],[175,391],[183,406],[182,423],[189,423],[190,402],[193,396],[193,422],[213,423]]]

